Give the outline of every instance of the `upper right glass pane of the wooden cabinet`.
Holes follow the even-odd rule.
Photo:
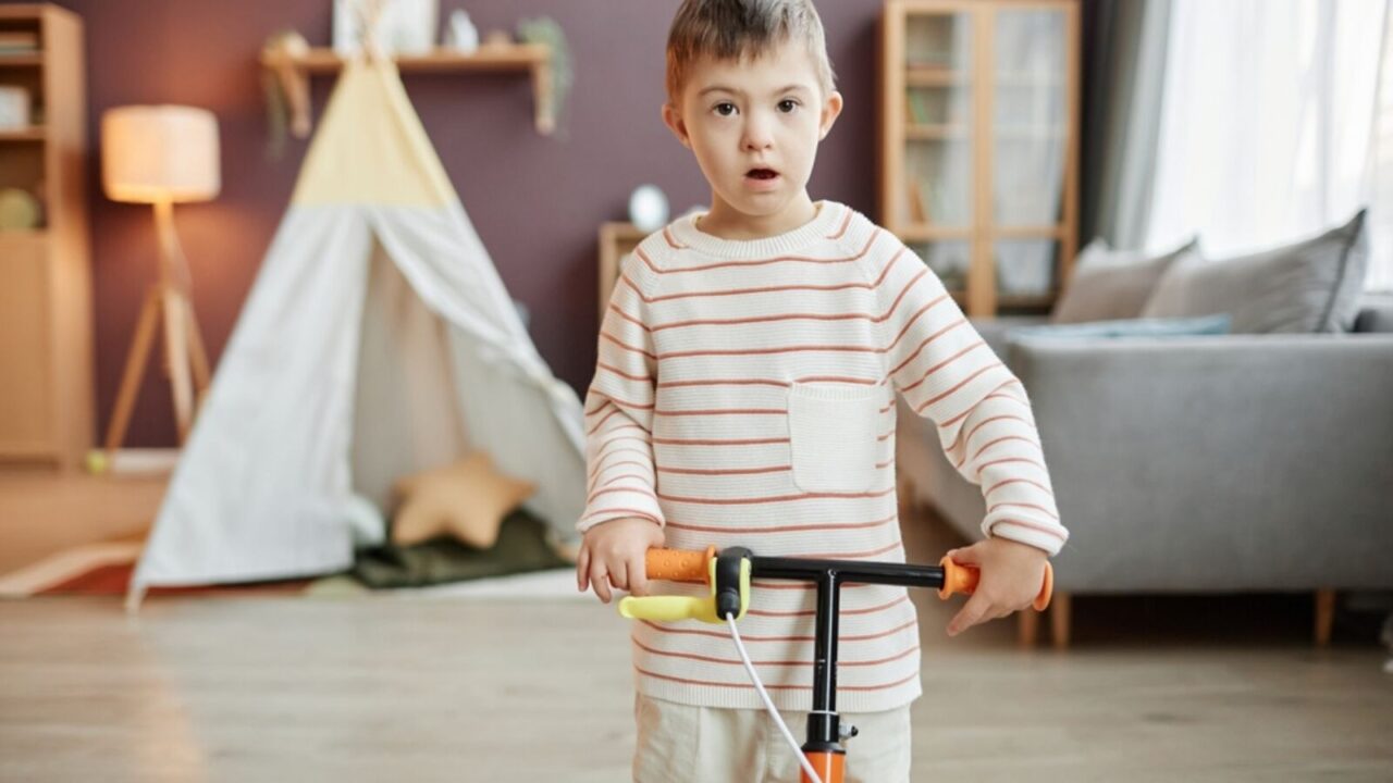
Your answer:
[[[997,226],[1061,219],[1068,144],[1063,11],[996,14],[993,212]]]

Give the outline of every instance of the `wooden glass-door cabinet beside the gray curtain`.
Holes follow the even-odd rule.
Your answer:
[[[1078,245],[1077,0],[889,0],[880,223],[970,315],[1048,311]]]

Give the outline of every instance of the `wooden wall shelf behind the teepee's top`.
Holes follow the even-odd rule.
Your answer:
[[[540,43],[492,43],[472,53],[435,49],[426,54],[398,54],[393,57],[403,74],[446,72],[527,72],[532,77],[535,125],[542,135],[556,130],[552,109],[552,50]],[[260,56],[262,67],[281,79],[290,96],[291,130],[297,137],[309,135],[309,75],[337,72],[344,57],[329,47],[313,47],[304,54],[267,50]]]

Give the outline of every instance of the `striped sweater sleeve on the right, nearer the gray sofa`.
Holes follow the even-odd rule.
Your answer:
[[[1025,387],[922,259],[903,245],[875,270],[886,366],[914,412],[937,425],[953,467],[982,488],[982,534],[1057,555],[1060,524]]]

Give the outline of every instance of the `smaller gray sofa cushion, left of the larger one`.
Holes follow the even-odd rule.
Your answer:
[[[1162,274],[1176,261],[1194,254],[1198,254],[1195,240],[1170,252],[1148,256],[1138,251],[1113,249],[1106,240],[1096,238],[1078,254],[1074,276],[1050,320],[1082,323],[1137,318]]]

